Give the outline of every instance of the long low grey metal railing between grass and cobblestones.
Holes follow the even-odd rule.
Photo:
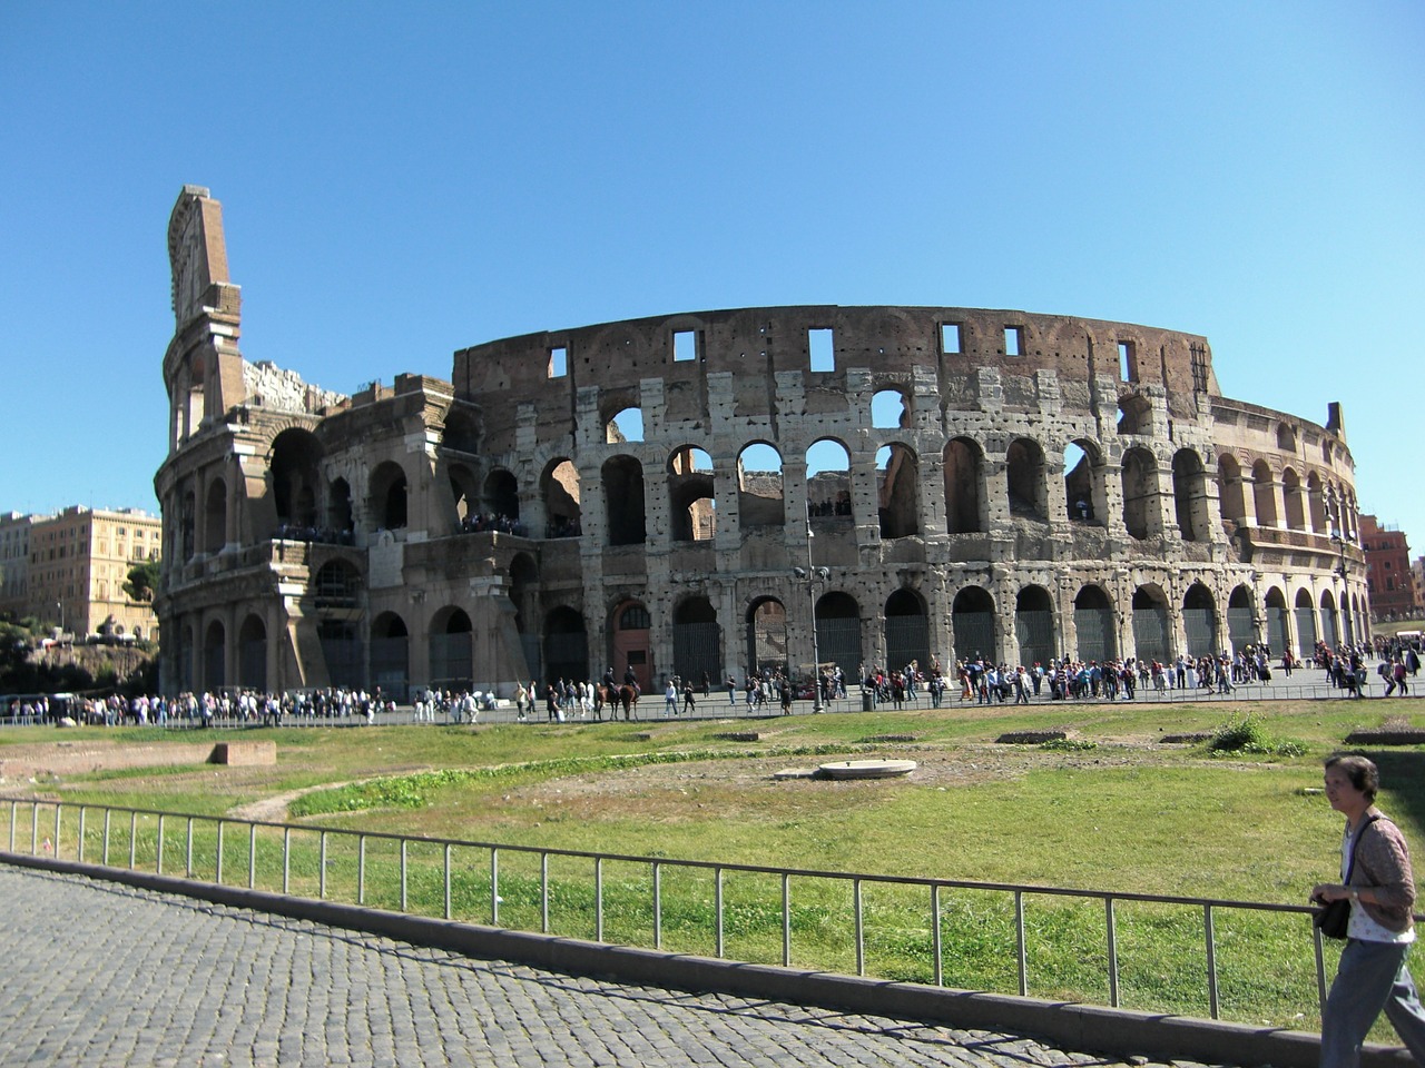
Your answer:
[[[1196,994],[1168,998],[1174,1004],[1141,1004],[1136,988],[1131,1007],[1186,1008],[1190,1015],[1206,1008],[1220,1020],[1230,985],[1234,1008],[1255,1020],[1261,1010],[1243,994],[1250,984],[1231,974],[1224,983],[1221,974],[1218,924],[1228,916],[1237,928],[1227,940],[1230,957],[1243,973],[1264,970],[1281,985],[1295,968],[1298,994],[1307,1000],[1310,950],[1318,1010],[1327,991],[1321,936],[1304,906],[674,860],[20,797],[0,797],[0,817],[7,817],[0,842],[7,840],[10,853],[720,960],[1114,1008],[1126,1007],[1124,920],[1130,927],[1173,928],[1190,917],[1196,933],[1176,936],[1180,946],[1170,960],[1161,948],[1149,950],[1156,960],[1144,968],[1131,947],[1127,960],[1137,974],[1157,970],[1180,980],[1188,974],[1184,960],[1197,957]],[[633,880],[611,884],[614,869],[631,870]],[[1046,923],[1053,910],[1030,907],[1046,899],[1069,904],[1067,924],[1064,917]],[[1130,906],[1161,914],[1136,916]],[[1093,921],[1093,914],[1102,920]],[[1273,923],[1275,930],[1265,930]],[[677,943],[671,948],[670,930]],[[1127,936],[1139,951],[1140,934]],[[992,943],[988,951],[968,948],[983,941]],[[734,944],[752,953],[732,957]],[[1238,960],[1243,946],[1257,956]],[[968,957],[979,961],[973,980],[962,967]],[[1066,960],[1080,978],[1059,974]],[[1097,978],[1082,977],[1094,971]],[[996,980],[983,973],[1006,988],[995,990]]]

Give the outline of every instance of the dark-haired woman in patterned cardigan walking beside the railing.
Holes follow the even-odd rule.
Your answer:
[[[1327,799],[1347,819],[1342,881],[1320,883],[1311,900],[1349,900],[1351,921],[1321,1017],[1321,1068],[1357,1068],[1382,1008],[1415,1064],[1425,1064],[1425,1008],[1405,960],[1415,941],[1415,877],[1405,836],[1375,807],[1379,783],[1364,756],[1325,762]]]

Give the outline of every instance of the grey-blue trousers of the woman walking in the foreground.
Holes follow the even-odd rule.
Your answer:
[[[1382,1008],[1415,1064],[1425,1065],[1425,1008],[1405,963],[1409,948],[1347,941],[1321,1020],[1321,1068],[1357,1068],[1361,1044]]]

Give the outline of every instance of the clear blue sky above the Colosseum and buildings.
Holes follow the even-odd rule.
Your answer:
[[[791,303],[1207,335],[1345,406],[1425,551],[1425,6],[0,6],[0,510],[157,510],[168,212],[242,352],[352,392],[455,349]]]

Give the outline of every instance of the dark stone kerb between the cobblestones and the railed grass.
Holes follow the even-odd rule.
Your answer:
[[[1305,1031],[604,946],[583,938],[510,931],[3,850],[0,863],[101,879],[234,909],[365,931],[475,958],[504,960],[564,974],[673,990],[761,997],[963,1030],[1012,1031],[1083,1052],[1243,1068],[1317,1068],[1321,1057],[1320,1037]],[[1412,1061],[1404,1048],[1368,1045],[1362,1051],[1361,1064],[1362,1068],[1406,1068]]]

